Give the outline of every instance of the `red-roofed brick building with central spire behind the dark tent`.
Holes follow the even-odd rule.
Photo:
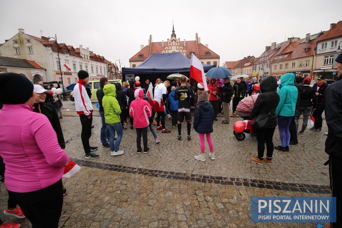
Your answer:
[[[153,42],[150,35],[146,46],[140,45],[141,50],[130,59],[130,67],[136,67],[144,62],[153,53],[181,52],[184,56],[191,58],[193,53],[203,64],[220,65],[220,56],[208,48],[208,44],[201,44],[201,38],[196,33],[195,40],[181,41],[176,37],[174,26],[172,26],[171,39],[166,42]]]

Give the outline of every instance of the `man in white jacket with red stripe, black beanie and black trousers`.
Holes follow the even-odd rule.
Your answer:
[[[97,147],[92,147],[89,144],[91,136],[91,125],[93,122],[93,105],[86,91],[86,84],[89,81],[89,74],[85,70],[80,70],[77,73],[79,78],[77,84],[74,87],[75,107],[77,114],[80,115],[82,124],[81,139],[84,152],[86,153],[86,159],[95,159],[100,157],[92,151],[97,150]]]

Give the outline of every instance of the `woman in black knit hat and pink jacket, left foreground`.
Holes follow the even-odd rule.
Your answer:
[[[69,156],[58,144],[48,118],[32,111],[34,99],[33,85],[26,77],[0,74],[5,185],[32,228],[57,228],[63,206],[61,178]]]

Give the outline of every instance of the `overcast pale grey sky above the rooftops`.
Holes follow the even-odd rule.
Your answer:
[[[83,45],[108,61],[129,67],[129,58],[147,45],[171,38],[172,21],[180,40],[195,40],[236,61],[258,57],[270,42],[329,30],[342,20],[341,0],[1,0],[0,43],[18,28],[32,36]],[[169,5],[169,3],[172,3]],[[119,61],[117,61],[119,64]],[[122,65],[123,67],[123,65]]]

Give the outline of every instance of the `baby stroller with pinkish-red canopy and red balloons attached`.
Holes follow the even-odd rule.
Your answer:
[[[253,109],[254,103],[257,100],[259,94],[254,94],[252,96],[242,99],[236,107],[236,113],[241,117],[242,121],[237,121],[233,126],[233,134],[238,141],[242,141],[246,138],[245,133],[254,136],[254,129],[251,125],[253,120],[249,119],[249,115]]]

